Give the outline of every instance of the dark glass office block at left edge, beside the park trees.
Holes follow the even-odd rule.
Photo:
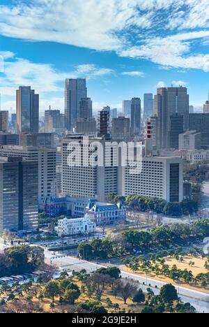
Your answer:
[[[38,163],[0,158],[0,231],[38,228]]]

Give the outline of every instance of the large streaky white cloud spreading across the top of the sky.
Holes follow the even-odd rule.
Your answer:
[[[203,45],[209,36],[208,0],[29,0],[14,3],[13,6],[0,6],[0,34],[3,36],[114,50],[121,56],[144,58],[161,66],[209,71],[209,54],[201,50],[194,52],[192,48],[194,42]],[[79,69],[91,72],[91,65]],[[97,71],[97,75],[111,73],[105,69]]]

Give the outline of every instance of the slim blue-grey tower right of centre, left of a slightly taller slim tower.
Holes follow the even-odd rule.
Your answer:
[[[131,130],[133,135],[139,134],[141,130],[141,99],[140,98],[132,98]]]

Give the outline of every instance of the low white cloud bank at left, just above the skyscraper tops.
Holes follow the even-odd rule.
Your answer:
[[[0,75],[0,89],[4,96],[15,96],[15,90],[19,85],[31,85],[40,95],[47,92],[63,92],[65,78],[92,79],[114,73],[109,68],[100,68],[94,64],[79,65],[74,71],[61,72],[49,64],[13,59],[4,61],[3,74]]]

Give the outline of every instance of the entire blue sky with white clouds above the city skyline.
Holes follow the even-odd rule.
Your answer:
[[[65,78],[76,77],[95,110],[171,84],[186,85],[200,110],[209,0],[1,0],[0,56],[1,108],[13,112],[18,85],[40,93],[42,112],[63,110]]]

